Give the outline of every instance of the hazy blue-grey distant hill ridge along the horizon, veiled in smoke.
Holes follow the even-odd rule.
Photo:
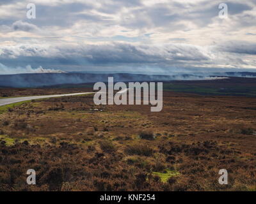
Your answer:
[[[0,75],[0,87],[42,87],[61,84],[84,84],[107,82],[108,77],[114,77],[115,82],[150,82],[173,80],[213,80],[222,77],[256,77],[256,73],[227,72],[211,73],[209,76],[200,74],[177,75],[141,75],[130,73],[29,73],[17,75]]]

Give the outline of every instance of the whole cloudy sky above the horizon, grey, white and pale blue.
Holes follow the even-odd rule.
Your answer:
[[[212,68],[256,68],[256,0],[0,1],[0,74]]]

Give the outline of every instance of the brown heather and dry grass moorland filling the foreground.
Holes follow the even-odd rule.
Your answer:
[[[0,190],[255,191],[255,102],[164,92],[159,113],[92,96],[24,103],[0,115]]]

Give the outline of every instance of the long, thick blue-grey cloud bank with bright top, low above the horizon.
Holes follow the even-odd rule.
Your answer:
[[[208,57],[192,45],[170,44],[130,45],[128,43],[108,43],[106,45],[86,45],[77,47],[40,47],[21,45],[0,48],[1,58],[47,57],[56,59],[77,59],[93,64],[103,63],[157,63],[164,61],[203,61]],[[65,60],[63,61],[65,62]]]

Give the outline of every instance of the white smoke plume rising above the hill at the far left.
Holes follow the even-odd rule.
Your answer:
[[[14,75],[22,73],[65,73],[65,71],[61,71],[60,69],[44,69],[42,66],[33,69],[30,65],[26,67],[18,66],[16,68],[10,68],[0,63],[0,75]]]

